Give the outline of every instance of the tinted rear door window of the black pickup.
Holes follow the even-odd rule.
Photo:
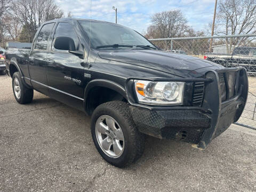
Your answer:
[[[37,39],[35,49],[46,50],[49,36],[51,34],[54,23],[45,24],[40,30]]]

